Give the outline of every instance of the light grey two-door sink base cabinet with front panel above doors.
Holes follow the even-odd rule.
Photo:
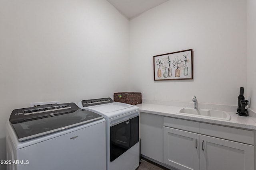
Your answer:
[[[164,163],[180,170],[254,170],[253,140],[252,131],[164,117]]]

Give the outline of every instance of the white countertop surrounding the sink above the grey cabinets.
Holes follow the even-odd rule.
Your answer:
[[[184,107],[165,106],[165,105],[158,105],[158,104],[144,104],[144,103],[138,104],[136,106],[140,107],[140,112],[144,112],[144,113],[151,113],[156,115],[187,119],[191,121],[200,121],[203,123],[213,123],[217,125],[226,125],[231,127],[256,130],[256,117],[239,116],[236,113],[232,113],[232,112],[226,112],[231,116],[231,119],[229,121],[226,121],[226,120],[220,120],[220,119],[212,119],[210,117],[209,118],[194,117],[194,116],[177,114],[180,111],[180,109]]]

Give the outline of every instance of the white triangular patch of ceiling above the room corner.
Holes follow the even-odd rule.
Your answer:
[[[107,0],[128,19],[134,18],[168,0]]]

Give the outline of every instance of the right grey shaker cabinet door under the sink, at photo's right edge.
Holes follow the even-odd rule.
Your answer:
[[[200,135],[200,169],[254,170],[254,146]]]

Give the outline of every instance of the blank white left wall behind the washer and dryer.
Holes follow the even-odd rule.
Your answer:
[[[0,23],[0,160],[13,109],[127,89],[129,21],[108,1],[0,0]]]

